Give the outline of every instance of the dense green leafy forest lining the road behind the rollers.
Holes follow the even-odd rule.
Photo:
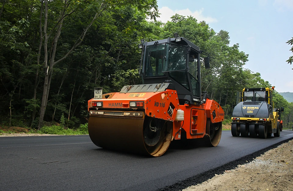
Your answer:
[[[230,44],[225,29],[215,31],[192,16],[176,14],[167,23],[158,16],[156,0],[0,0],[0,125],[87,123],[95,87],[108,93],[142,83],[140,40],[175,32],[209,53],[202,91],[219,102],[226,119],[244,87],[271,87],[259,72],[245,69],[249,55]],[[275,108],[285,108],[284,127],[291,127],[293,102],[273,94]]]

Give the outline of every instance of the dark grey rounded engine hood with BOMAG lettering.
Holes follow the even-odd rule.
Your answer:
[[[272,114],[272,106],[267,102],[240,102],[232,113],[232,117],[268,118]]]

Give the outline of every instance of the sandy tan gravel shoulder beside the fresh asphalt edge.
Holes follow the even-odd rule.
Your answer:
[[[184,191],[205,190],[292,190],[293,140],[271,149],[253,161]]]

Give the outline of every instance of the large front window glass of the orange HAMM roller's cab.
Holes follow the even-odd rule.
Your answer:
[[[186,46],[162,43],[147,46],[145,75],[164,76],[167,71],[186,69]]]

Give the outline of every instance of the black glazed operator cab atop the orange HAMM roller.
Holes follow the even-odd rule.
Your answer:
[[[198,46],[184,37],[145,42],[141,65],[144,84],[171,80],[179,103],[201,103],[200,53]],[[208,54],[207,54],[208,55]],[[205,59],[206,66],[209,66]]]

